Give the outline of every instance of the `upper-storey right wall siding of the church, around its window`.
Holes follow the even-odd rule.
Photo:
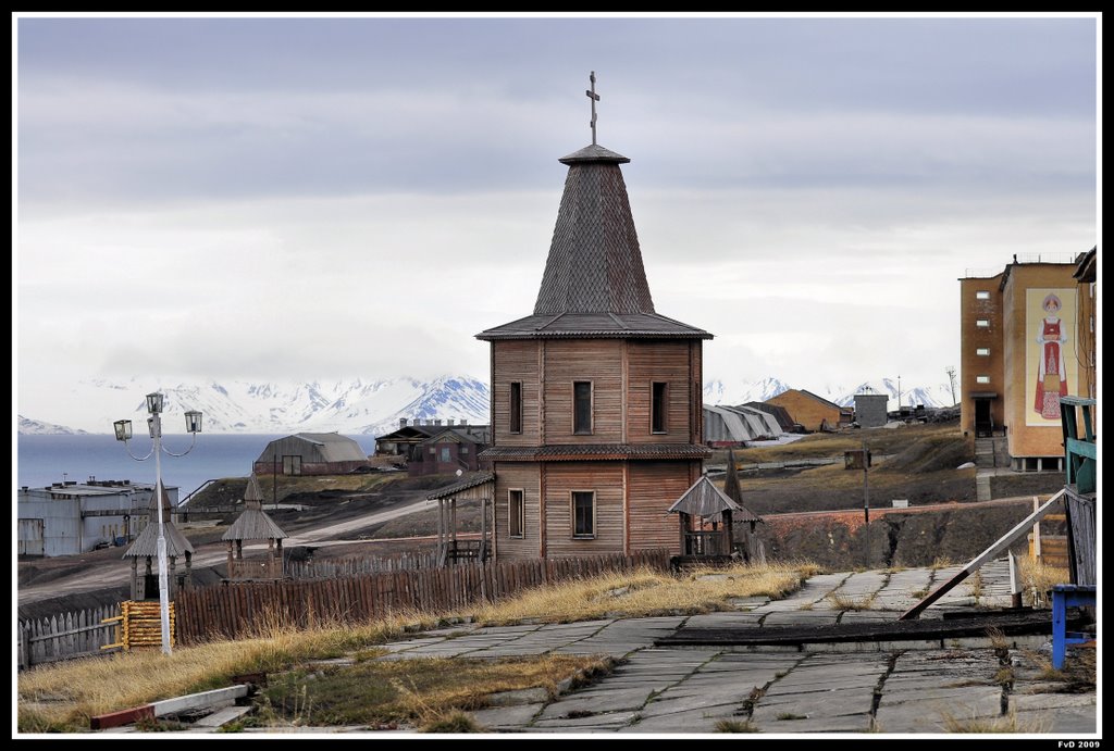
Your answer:
[[[687,342],[631,342],[627,352],[627,441],[629,443],[687,443],[691,433],[692,386]],[[665,433],[651,433],[651,384],[666,386]]]

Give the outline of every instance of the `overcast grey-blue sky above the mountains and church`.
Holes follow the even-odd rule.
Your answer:
[[[957,278],[1100,241],[1100,23],[13,17],[19,403],[486,378],[473,335],[532,312],[590,70],[706,377],[946,383]]]

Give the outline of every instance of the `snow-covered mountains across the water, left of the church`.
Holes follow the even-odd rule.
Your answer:
[[[203,414],[206,433],[339,431],[380,435],[398,427],[401,417],[471,424],[489,421],[487,383],[468,376],[442,376],[433,381],[400,377],[306,383],[138,377],[126,382],[82,381],[51,394],[50,404],[39,406],[37,419],[31,422],[65,422],[90,433],[109,433],[117,419],[141,425],[147,418],[144,395],[153,391],[166,397],[163,424],[167,433],[184,432],[182,415],[187,409]],[[25,432],[22,423],[20,432]]]

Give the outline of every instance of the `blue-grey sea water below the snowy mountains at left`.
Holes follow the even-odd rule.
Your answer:
[[[163,454],[163,482],[176,486],[178,497],[185,498],[207,480],[246,477],[267,443],[280,437],[283,436],[201,433],[186,456]],[[365,454],[375,452],[374,436],[351,437]],[[189,436],[164,435],[163,447],[180,454],[189,447]],[[152,441],[146,434],[137,434],[127,448],[136,456],[146,456]],[[20,435],[16,458],[17,487],[46,487],[65,481],[84,483],[90,477],[155,482],[155,457],[134,461],[113,435]]]

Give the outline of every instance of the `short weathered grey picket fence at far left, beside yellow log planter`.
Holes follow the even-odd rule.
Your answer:
[[[48,619],[19,621],[16,625],[19,669],[59,660],[104,654],[101,646],[119,642],[119,605],[101,605]]]

